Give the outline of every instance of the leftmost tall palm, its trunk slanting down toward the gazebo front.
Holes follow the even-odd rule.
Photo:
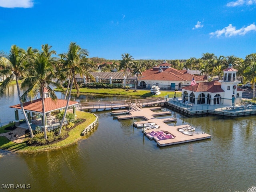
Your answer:
[[[8,55],[8,57],[0,58],[0,63],[4,67],[4,69],[0,71],[0,74],[7,75],[7,78],[0,85],[0,96],[4,94],[4,90],[6,90],[10,82],[15,79],[17,91],[18,91],[18,98],[20,101],[20,107],[24,114],[28,129],[30,131],[30,137],[33,138],[34,134],[24,110],[22,98],[20,96],[20,85],[18,83],[18,79],[22,76],[22,74],[24,74],[26,70],[24,64],[26,63],[28,58],[32,56],[33,51],[31,50],[32,50],[31,48],[28,48],[28,52],[26,52],[25,50],[19,48],[18,46],[13,45],[11,47],[10,54]]]

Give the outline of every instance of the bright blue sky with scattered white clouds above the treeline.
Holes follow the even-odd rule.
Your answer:
[[[4,52],[76,42],[106,59],[256,53],[256,0],[0,0],[0,26]]]

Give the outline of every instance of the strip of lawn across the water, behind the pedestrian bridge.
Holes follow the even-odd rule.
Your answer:
[[[58,91],[58,90],[57,90]],[[76,93],[76,89],[72,89],[72,92]],[[89,93],[89,94],[111,94],[111,95],[120,95],[120,96],[137,96],[142,98],[148,97],[162,97],[168,94],[174,94],[174,91],[162,91],[160,95],[152,95],[150,90],[137,90],[136,92],[132,89],[128,91],[123,88],[80,88],[80,93]]]

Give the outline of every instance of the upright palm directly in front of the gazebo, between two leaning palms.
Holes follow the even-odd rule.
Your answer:
[[[46,56],[44,52],[37,53],[34,57],[34,62],[30,65],[29,74],[25,76],[22,81],[22,87],[29,86],[28,90],[22,95],[23,100],[30,98],[32,100],[35,96],[40,93],[42,98],[42,122],[44,127],[44,138],[47,138],[47,128],[46,128],[46,114],[45,114],[45,104],[44,104],[44,89],[47,89],[50,92],[50,97],[52,100],[57,100],[57,96],[53,87],[61,87],[58,82],[53,81],[56,77],[53,64],[51,63],[51,58]]]

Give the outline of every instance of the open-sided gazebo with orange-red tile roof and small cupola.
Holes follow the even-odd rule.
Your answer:
[[[59,122],[55,121],[55,116],[52,115],[52,112],[54,111],[60,111],[64,108],[66,108],[67,105],[67,100],[63,99],[57,99],[57,100],[52,100],[49,98],[49,94],[44,93],[45,98],[44,98],[44,109],[45,113],[43,113],[43,106],[42,106],[42,98],[36,99],[33,101],[25,102],[23,103],[24,110],[26,112],[26,115],[28,117],[28,120],[31,124],[31,128],[35,130],[37,126],[41,126],[44,128],[44,126],[47,127],[49,126],[50,129],[57,128],[57,124],[59,125]],[[76,115],[76,105],[78,102],[75,101],[69,101],[68,108],[69,110],[72,110],[73,114]],[[20,104],[16,104],[13,106],[10,106],[10,108],[15,109],[15,125],[18,127],[20,126],[20,118],[19,118],[19,111],[21,110]],[[24,114],[25,115],[25,114]],[[44,118],[42,118],[44,116]],[[45,119],[45,121],[43,121]],[[22,127],[22,126],[20,126]]]

